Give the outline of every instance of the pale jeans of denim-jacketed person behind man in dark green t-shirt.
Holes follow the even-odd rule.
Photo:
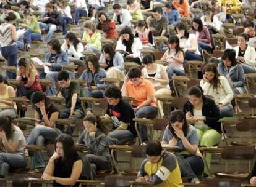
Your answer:
[[[51,79],[53,81],[53,84],[51,87],[47,86],[45,90],[46,95],[56,95],[56,82],[58,81],[58,74],[59,71],[51,71],[50,73],[47,73],[45,78]],[[43,79],[44,74],[40,75],[40,78]],[[69,72],[69,78],[74,78],[74,73]]]

